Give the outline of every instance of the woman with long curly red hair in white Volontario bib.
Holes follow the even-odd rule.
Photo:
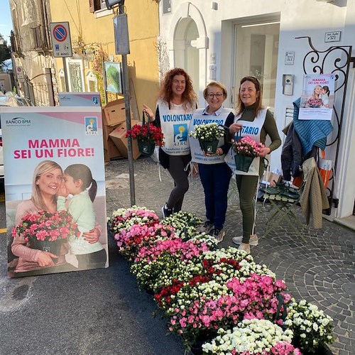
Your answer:
[[[185,193],[189,189],[188,169],[191,160],[188,127],[196,109],[197,96],[192,88],[190,76],[181,68],[165,74],[158,94],[155,116],[143,104],[143,111],[150,116],[155,126],[162,129],[165,145],[159,149],[159,160],[168,169],[175,187],[168,202],[162,207],[163,217],[179,212]]]

